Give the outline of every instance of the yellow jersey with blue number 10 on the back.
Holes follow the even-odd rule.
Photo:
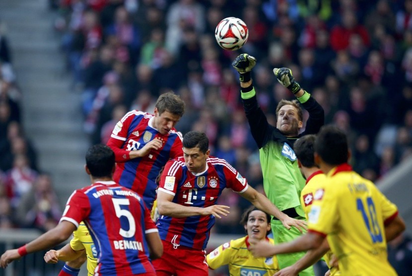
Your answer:
[[[398,215],[397,207],[348,164],[331,170],[326,181],[314,194],[309,231],[327,236],[343,276],[396,276],[384,225]]]

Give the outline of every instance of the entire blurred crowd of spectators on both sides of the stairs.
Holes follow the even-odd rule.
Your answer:
[[[177,130],[205,132],[211,155],[226,159],[263,192],[259,153],[230,66],[248,53],[257,58],[254,86],[272,124],[277,102],[294,98],[272,69],[288,67],[323,106],[326,123],[347,133],[355,171],[376,181],[412,156],[412,0],[51,3],[90,143],[106,143],[129,110],[152,113],[158,95],[173,90],[186,102]],[[247,43],[233,52],[214,39],[216,25],[229,16],[249,28]],[[37,167],[21,127],[9,52],[0,32],[0,227],[44,229],[61,211],[50,175]],[[220,204],[231,213],[213,231],[244,233],[239,217],[249,203],[224,192]]]

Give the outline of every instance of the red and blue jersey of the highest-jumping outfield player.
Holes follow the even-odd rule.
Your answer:
[[[162,135],[153,128],[154,115],[133,110],[120,120],[113,130],[107,145],[116,156],[116,171],[113,179],[143,197],[146,207],[151,210],[156,198],[156,177],[170,159],[183,156],[182,135],[172,129]],[[130,159],[131,150],[142,148],[152,139],[160,139],[163,146],[151,150],[140,158]]]

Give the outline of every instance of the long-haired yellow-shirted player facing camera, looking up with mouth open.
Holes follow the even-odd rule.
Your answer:
[[[206,256],[207,265],[213,270],[229,265],[231,276],[274,275],[279,270],[276,256],[255,258],[248,250],[250,242],[267,240],[274,243],[273,239],[267,237],[271,230],[271,216],[252,206],[243,213],[240,222],[248,235],[217,247]]]

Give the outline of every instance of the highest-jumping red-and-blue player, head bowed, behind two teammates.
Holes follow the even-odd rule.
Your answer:
[[[185,103],[178,95],[162,94],[154,115],[130,111],[107,142],[117,162],[113,179],[142,196],[149,210],[156,198],[156,177],[167,161],[183,155],[182,136],[174,127],[184,111]]]

